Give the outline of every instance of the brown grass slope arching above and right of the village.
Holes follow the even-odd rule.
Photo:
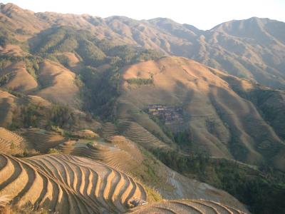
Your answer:
[[[185,127],[192,133],[192,146],[196,151],[254,164],[276,156],[284,143],[273,128],[253,103],[239,96],[229,83],[212,71],[212,68],[179,57],[128,66],[121,71],[118,118],[130,120],[132,114],[125,112],[143,110],[153,103],[181,106],[185,111]],[[128,83],[130,78],[150,78],[150,73],[153,85]],[[120,109],[121,106],[124,108]],[[133,120],[140,123],[138,118]],[[260,146],[264,141],[270,142],[266,148]]]

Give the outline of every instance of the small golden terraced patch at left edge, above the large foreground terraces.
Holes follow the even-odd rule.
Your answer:
[[[24,138],[16,133],[0,127],[0,151],[9,154],[22,153],[25,146]]]

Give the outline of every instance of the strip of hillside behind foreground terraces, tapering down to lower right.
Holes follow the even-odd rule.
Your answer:
[[[75,135],[76,133],[73,133],[73,135],[70,133],[69,137],[73,136],[74,139],[74,141],[71,141],[58,132],[45,131],[39,128],[21,128],[17,131],[18,135],[4,128],[1,130],[7,133],[2,136],[3,141],[0,141],[0,146],[4,148],[6,153],[13,152],[13,150],[9,150],[9,146],[6,146],[6,142],[10,142],[11,138],[16,136],[16,139],[24,138],[25,143],[20,143],[21,148],[26,148],[24,154],[22,151],[17,153],[17,156],[34,156],[56,151],[56,153],[90,158],[127,173],[145,185],[155,188],[165,199],[202,198],[244,210],[244,206],[228,193],[213,188],[207,183],[200,183],[197,180],[186,178],[180,173],[167,168],[166,165],[142,147],[123,136],[111,136],[106,140],[99,136],[95,138],[78,138]],[[19,145],[16,142],[14,144],[15,148]],[[156,195],[150,188],[147,189],[147,192],[152,197]],[[149,199],[150,202],[152,200],[152,198]]]

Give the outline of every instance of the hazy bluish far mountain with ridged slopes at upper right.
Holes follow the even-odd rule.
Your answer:
[[[195,59],[227,73],[284,89],[284,26],[252,17],[199,31],[168,19],[150,20],[158,29],[183,39],[169,54]],[[193,36],[195,35],[195,36]]]

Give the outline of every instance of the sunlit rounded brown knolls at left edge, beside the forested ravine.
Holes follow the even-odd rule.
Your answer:
[[[6,50],[9,49],[9,50]],[[26,56],[20,46],[8,45],[8,48],[0,50],[0,56]],[[28,95],[41,96],[55,103],[64,103],[78,107],[79,88],[76,85],[76,74],[68,70],[60,63],[44,60],[38,63],[38,71],[32,75],[28,72],[24,59],[16,61],[7,60],[0,68],[0,78],[9,76],[1,87]]]

